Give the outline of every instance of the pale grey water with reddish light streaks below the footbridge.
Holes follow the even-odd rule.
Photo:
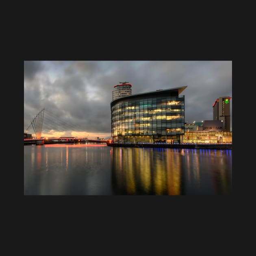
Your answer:
[[[25,195],[111,195],[106,145],[24,146]]]

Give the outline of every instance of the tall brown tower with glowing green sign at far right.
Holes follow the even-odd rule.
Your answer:
[[[226,132],[230,132],[230,100],[231,97],[222,96],[213,104],[213,120],[221,120]]]

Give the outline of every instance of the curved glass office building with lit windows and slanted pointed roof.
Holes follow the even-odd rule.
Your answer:
[[[118,98],[111,102],[113,143],[180,143],[187,86]]]

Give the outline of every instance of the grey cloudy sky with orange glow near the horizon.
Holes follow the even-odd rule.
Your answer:
[[[215,100],[232,97],[232,61],[24,61],[24,131],[35,135],[45,108],[42,136],[110,138],[113,86],[124,81],[132,94],[187,86],[185,121],[212,120]]]

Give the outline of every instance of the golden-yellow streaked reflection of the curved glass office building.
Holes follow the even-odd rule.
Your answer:
[[[112,148],[116,194],[180,195],[181,158],[174,149]]]

